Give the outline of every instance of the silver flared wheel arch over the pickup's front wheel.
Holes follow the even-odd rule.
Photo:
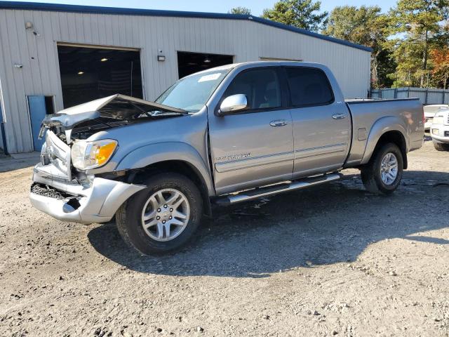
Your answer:
[[[215,195],[208,165],[194,147],[182,142],[166,142],[145,145],[123,157],[115,171],[140,169],[161,161],[185,161],[192,166],[206,185],[209,196]]]

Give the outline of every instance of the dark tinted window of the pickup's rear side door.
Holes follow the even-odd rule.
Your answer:
[[[334,95],[328,77],[319,69],[286,67],[291,103],[294,107],[328,105]]]

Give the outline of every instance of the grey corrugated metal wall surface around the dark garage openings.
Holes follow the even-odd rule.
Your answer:
[[[25,22],[33,29],[25,29]],[[0,78],[10,152],[32,151],[27,95],[55,95],[56,109],[62,109],[57,42],[140,48],[148,100],[177,79],[177,51],[234,55],[235,62],[321,62],[333,70],[347,98],[366,97],[369,89],[368,51],[257,22],[3,9]],[[157,62],[159,49],[166,62]]]

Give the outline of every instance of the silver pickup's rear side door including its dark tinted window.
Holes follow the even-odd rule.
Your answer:
[[[344,102],[336,102],[323,70],[285,67],[293,119],[293,176],[340,169],[349,151],[351,121]]]

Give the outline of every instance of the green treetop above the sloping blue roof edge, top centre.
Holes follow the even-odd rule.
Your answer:
[[[265,9],[262,18],[318,32],[326,22],[327,12],[321,12],[321,2],[312,0],[280,0]]]

